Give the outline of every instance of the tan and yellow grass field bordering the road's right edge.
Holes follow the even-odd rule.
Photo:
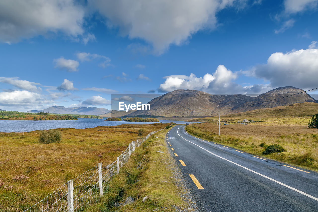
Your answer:
[[[232,124],[218,126],[210,124],[194,124],[186,130],[195,136],[216,143],[222,143],[238,150],[254,155],[279,160],[292,165],[318,171],[318,130],[306,128],[304,125],[257,125]],[[278,144],[287,150],[283,153],[263,155],[268,145]]]

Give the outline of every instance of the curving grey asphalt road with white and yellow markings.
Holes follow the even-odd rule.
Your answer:
[[[172,128],[167,143],[200,211],[318,211],[318,173],[199,139],[184,127]]]

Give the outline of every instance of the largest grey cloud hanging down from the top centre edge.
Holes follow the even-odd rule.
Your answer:
[[[216,13],[226,7],[245,6],[245,0],[89,0],[105,17],[108,27],[119,27],[121,35],[141,38],[162,54],[170,44],[181,45],[205,28],[214,28]]]

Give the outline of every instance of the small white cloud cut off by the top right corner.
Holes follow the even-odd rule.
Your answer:
[[[318,0],[285,0],[285,12],[292,14],[305,10],[315,9]]]

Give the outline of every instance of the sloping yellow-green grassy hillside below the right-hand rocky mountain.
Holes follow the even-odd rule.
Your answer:
[[[278,106],[273,108],[257,109],[247,111],[243,113],[235,113],[228,115],[221,115],[221,122],[233,122],[243,121],[243,119],[254,120],[254,121],[265,121],[257,122],[254,124],[259,125],[273,125],[273,124],[302,124],[307,125],[311,116],[318,112],[318,103],[297,103],[288,106]],[[197,118],[194,121],[203,122],[217,122],[218,116]]]

